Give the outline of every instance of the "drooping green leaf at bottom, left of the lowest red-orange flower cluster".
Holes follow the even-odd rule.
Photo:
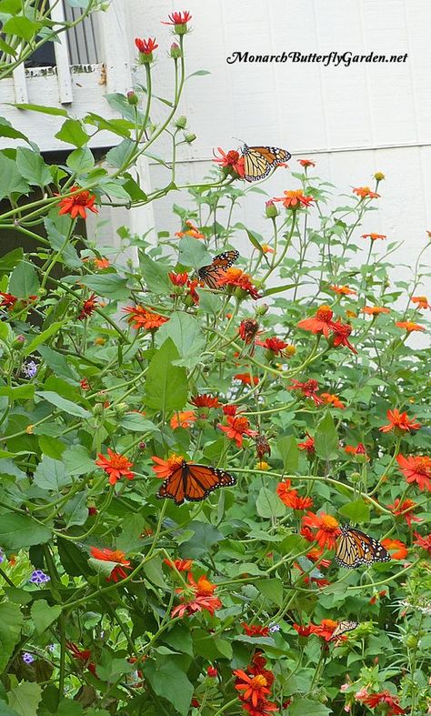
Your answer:
[[[157,663],[153,660],[145,661],[143,671],[157,696],[172,703],[181,716],[187,716],[194,687],[180,668],[177,657],[166,656],[157,660]]]

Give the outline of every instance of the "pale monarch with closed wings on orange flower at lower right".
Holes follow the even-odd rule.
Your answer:
[[[384,546],[360,529],[341,525],[341,536],[336,545],[336,563],[345,570],[356,570],[363,564],[388,562],[391,556]]]

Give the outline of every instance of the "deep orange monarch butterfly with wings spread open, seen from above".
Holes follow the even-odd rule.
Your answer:
[[[236,479],[223,469],[207,465],[183,462],[165,479],[157,492],[158,498],[173,499],[175,505],[182,505],[185,499],[200,502],[217,488],[230,488]]]

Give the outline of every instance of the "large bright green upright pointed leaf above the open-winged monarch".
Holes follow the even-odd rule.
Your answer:
[[[187,373],[173,362],[180,358],[172,338],[166,338],[155,355],[146,373],[145,403],[148,408],[163,412],[181,410],[188,398]]]

